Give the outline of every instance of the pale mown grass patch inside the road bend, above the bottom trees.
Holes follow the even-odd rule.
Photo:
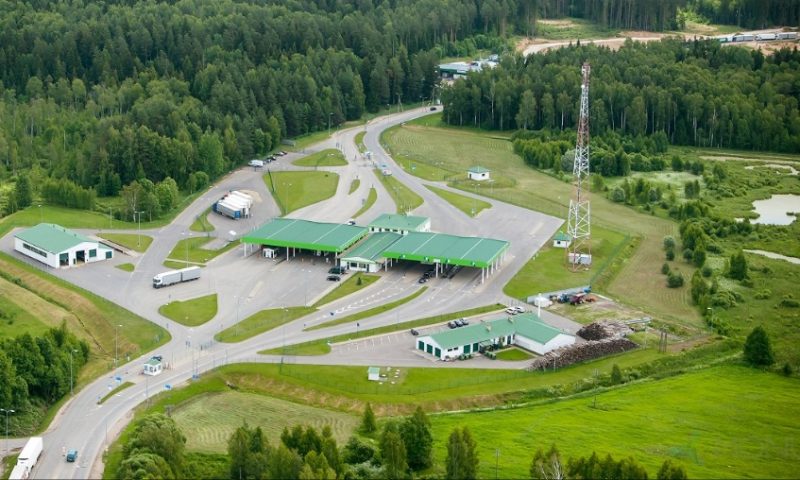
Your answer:
[[[281,431],[295,425],[317,432],[329,425],[337,443],[344,445],[360,422],[357,415],[235,391],[194,397],[173,409],[172,418],[186,435],[186,449],[204,453],[227,452],[228,437],[245,422],[260,426],[270,445],[279,444]]]

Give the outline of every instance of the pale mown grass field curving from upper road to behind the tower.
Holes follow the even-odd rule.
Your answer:
[[[419,164],[438,165],[447,171],[461,172],[459,175],[470,166],[483,165],[492,171],[494,182],[488,191],[482,188],[481,195],[566,217],[571,184],[526,166],[513,153],[511,143],[495,132],[408,122],[387,130],[382,140],[393,152],[408,152]],[[451,181],[450,185],[473,191],[472,183],[462,180]],[[593,230],[602,227],[630,235],[638,242],[629,257],[620,261],[613,278],[605,282],[604,292],[664,320],[701,324],[697,309],[691,305],[688,288],[668,289],[660,278],[659,269],[664,262],[663,237],[677,237],[678,225],[598,195],[591,195],[590,199]],[[687,266],[683,273],[690,278],[693,269]]]

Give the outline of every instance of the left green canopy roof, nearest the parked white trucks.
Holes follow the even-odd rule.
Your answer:
[[[367,232],[355,225],[276,218],[242,237],[242,243],[341,253]]]

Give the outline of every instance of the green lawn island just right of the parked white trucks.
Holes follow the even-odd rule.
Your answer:
[[[272,182],[269,174],[264,181],[283,215],[331,198],[339,183],[339,175],[331,172],[272,172],[271,175]]]

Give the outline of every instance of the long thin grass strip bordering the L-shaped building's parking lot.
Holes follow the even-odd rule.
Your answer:
[[[473,315],[481,315],[483,313],[495,312],[495,311],[500,312],[504,308],[506,308],[506,306],[499,303],[495,303],[492,305],[484,305],[482,307],[470,308],[468,310],[461,310],[459,312],[451,312],[444,315],[434,315],[432,317],[420,318],[418,320],[411,320],[399,324],[364,329],[360,330],[358,333],[356,332],[346,333],[342,335],[337,335],[335,337],[331,337],[329,339],[312,340],[310,342],[298,343],[295,345],[289,345],[286,348],[273,348],[269,350],[262,350],[258,353],[262,355],[281,355],[284,353],[286,355],[325,355],[330,353],[331,351],[329,342],[330,343],[344,342],[348,340],[355,340],[358,338],[371,337],[373,335],[380,335],[383,333],[398,332],[401,330],[408,330],[410,328],[415,328],[415,327],[424,327],[427,325],[446,322],[454,318],[471,317]]]

